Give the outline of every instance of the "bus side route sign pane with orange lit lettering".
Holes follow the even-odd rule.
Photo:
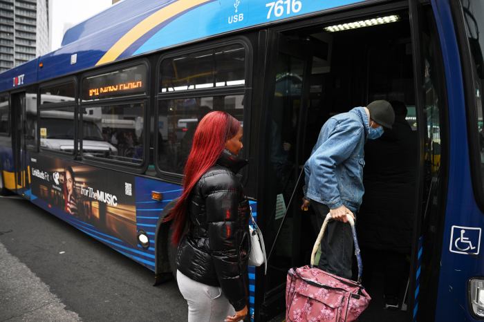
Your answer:
[[[86,77],[82,82],[82,100],[145,94],[147,91],[146,79],[147,66],[144,64]]]

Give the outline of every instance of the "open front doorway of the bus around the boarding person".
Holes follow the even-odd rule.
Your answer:
[[[317,231],[314,211],[299,209],[302,183],[283,225],[281,216],[321,126],[332,115],[381,99],[404,102],[409,111],[416,111],[416,122],[411,123],[413,131],[418,132],[418,142],[413,141],[413,146],[419,147],[419,162],[413,166],[418,167],[418,189],[408,200],[416,205],[409,214],[416,219],[413,247],[409,244],[411,250],[405,253],[404,270],[409,275],[400,283],[398,311],[383,309],[384,278],[382,269],[375,269],[380,274],[373,281],[375,298],[360,320],[433,319],[441,249],[438,240],[445,207],[446,173],[440,162],[445,164],[447,151],[443,65],[434,16],[431,6],[417,0],[352,13],[355,15],[351,17],[326,17],[268,30],[263,88],[263,106],[267,108],[264,171],[257,199],[266,247],[268,252],[272,245],[274,249],[267,276],[258,276],[258,283],[263,285],[258,284],[256,289],[263,292],[256,293],[257,321],[270,318],[272,312],[283,312],[288,268],[308,264]],[[379,15],[398,15],[400,20],[339,33],[322,31],[328,25]]]

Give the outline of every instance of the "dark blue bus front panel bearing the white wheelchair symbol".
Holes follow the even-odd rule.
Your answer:
[[[469,312],[467,282],[484,275],[484,258],[478,249],[484,216],[476,205],[470,176],[467,117],[462,70],[448,0],[433,0],[432,6],[443,50],[449,102],[449,180],[443,231],[442,258],[435,321],[476,321]],[[474,251],[461,236],[469,238]]]

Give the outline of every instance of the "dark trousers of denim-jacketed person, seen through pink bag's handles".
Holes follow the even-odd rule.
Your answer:
[[[317,234],[321,230],[324,218],[329,212],[328,206],[311,200],[311,207],[316,214]],[[353,264],[353,235],[348,222],[331,220],[328,222],[323,240],[318,267],[328,273],[351,279]]]

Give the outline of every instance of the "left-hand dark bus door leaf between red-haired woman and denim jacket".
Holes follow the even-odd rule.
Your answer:
[[[287,37],[279,32],[268,32],[268,57],[266,66],[265,102],[266,146],[263,184],[259,193],[259,217],[263,227],[266,249],[270,254],[268,273],[264,279],[263,303],[258,312],[261,320],[283,311],[286,274],[290,267],[301,264],[306,254],[301,254],[302,216],[299,216],[301,189],[297,189],[288,209],[292,192],[304,164],[300,158],[301,134],[306,111],[307,75],[311,68],[312,54],[299,37]],[[304,176],[301,177],[304,180]],[[299,184],[299,188],[301,184]],[[286,219],[283,215],[288,210]],[[277,235],[279,232],[279,235]],[[276,238],[277,236],[277,238]],[[256,301],[258,302],[258,301]]]

